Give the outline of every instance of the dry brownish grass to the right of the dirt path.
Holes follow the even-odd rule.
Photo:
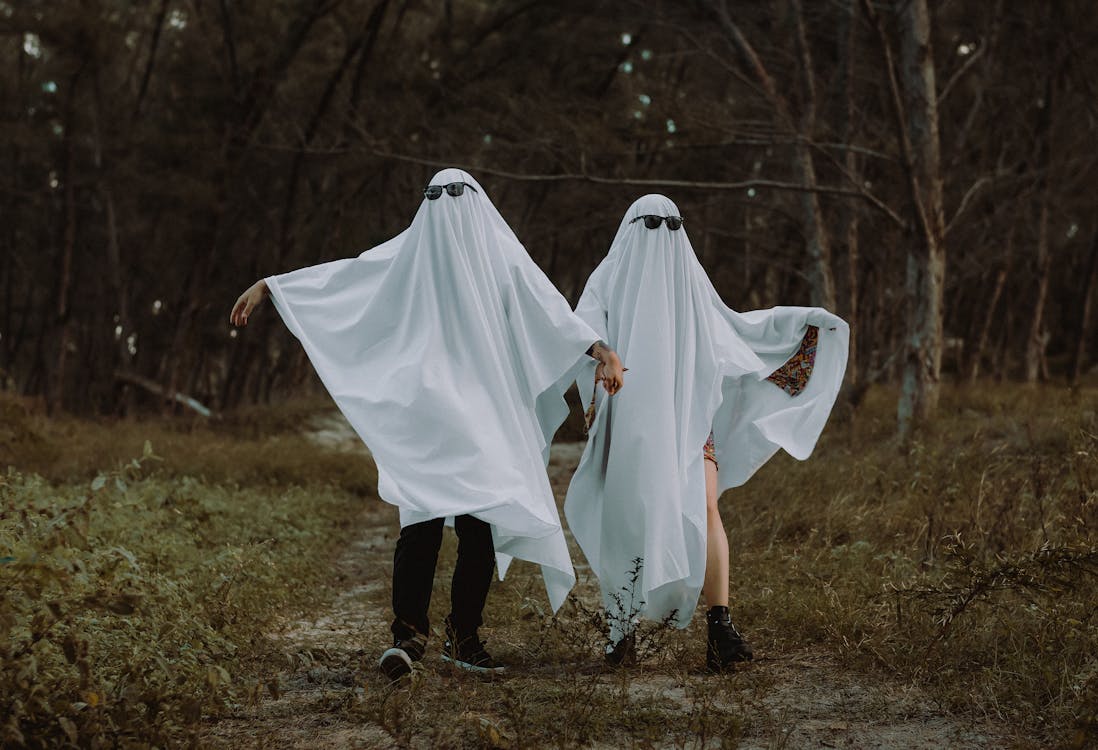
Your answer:
[[[946,390],[907,447],[895,394],[871,395],[809,461],[775,457],[724,499],[740,618],[1020,741],[1098,741],[1096,394]]]

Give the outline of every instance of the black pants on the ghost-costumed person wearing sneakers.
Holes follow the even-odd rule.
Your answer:
[[[412,638],[426,636],[430,628],[427,607],[435,585],[435,566],[442,545],[442,518],[412,524],[401,529],[393,555],[393,635]],[[481,613],[488,601],[488,587],[495,569],[492,527],[472,516],[457,516],[458,561],[450,586],[450,623],[459,637],[471,635],[481,626]]]

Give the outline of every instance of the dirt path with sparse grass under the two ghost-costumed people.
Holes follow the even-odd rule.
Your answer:
[[[349,459],[366,452],[338,414],[315,422],[311,437]],[[550,478],[561,503],[582,447],[553,446]],[[594,646],[597,634],[580,633],[583,626],[578,625],[585,607],[597,607],[597,582],[571,539],[580,609],[576,602],[565,605],[558,620],[540,612],[536,602],[544,601],[544,592],[530,566],[516,563],[507,581],[493,584],[481,635],[493,656],[508,665],[506,676],[484,681],[456,672],[439,659],[442,639],[436,635],[413,678],[390,686],[376,664],[390,641],[396,512],[371,500],[358,523],[357,541],[330,569],[327,607],[284,623],[274,635],[288,663],[272,691],[277,697],[212,721],[204,742],[310,749],[897,750],[1017,743],[1000,719],[951,713],[912,681],[848,665],[834,649],[768,639],[750,620],[738,624],[753,641],[755,661],[727,676],[702,670],[699,615],[690,629],[660,635],[659,656],[636,668],[604,669]],[[445,613],[453,553],[448,533],[432,608],[436,623]],[[571,629],[561,625],[569,618],[574,620]],[[571,654],[561,657],[569,647]]]

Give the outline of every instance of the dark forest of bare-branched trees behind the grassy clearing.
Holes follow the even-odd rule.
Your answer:
[[[1096,32],[1086,0],[2,0],[0,377],[51,413],[315,389],[232,302],[457,165],[573,302],[671,195],[732,307],[851,323],[848,396],[903,383],[901,432],[942,377],[1075,382]]]

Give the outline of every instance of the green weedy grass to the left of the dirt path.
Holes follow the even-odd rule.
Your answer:
[[[203,717],[277,692],[272,635],[330,595],[372,467],[288,435],[16,416],[0,445],[45,475],[0,474],[0,745],[197,747]]]

